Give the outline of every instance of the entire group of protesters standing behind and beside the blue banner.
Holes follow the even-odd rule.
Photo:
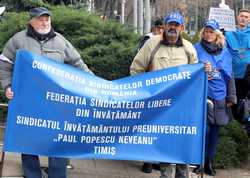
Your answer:
[[[0,81],[8,99],[15,96],[11,89],[11,78],[15,55],[19,49],[92,73],[71,43],[53,30],[51,12],[48,9],[32,8],[29,14],[27,28],[9,39],[0,56]],[[184,30],[183,15],[179,11],[173,11],[162,22],[156,23],[159,29],[156,28],[141,44],[130,67],[131,75],[136,75],[183,64],[204,63],[204,70],[208,74],[209,99],[204,168],[209,175],[216,174],[213,159],[219,129],[228,124],[232,118],[230,107],[237,103],[235,81],[238,99],[245,97],[249,91],[249,20],[250,11],[241,10],[237,30],[226,32],[226,39],[218,22],[208,20],[200,32],[200,41],[193,46],[181,36]],[[66,164],[67,160],[64,158],[49,158],[49,178],[66,178]],[[26,178],[42,177],[37,155],[22,154],[22,167]],[[151,170],[150,163],[144,164],[144,172],[149,173]],[[160,170],[160,178],[170,178],[173,175],[170,163],[160,163]],[[201,167],[195,169],[196,173],[200,171]],[[176,165],[176,178],[185,178],[187,174],[187,165]]]

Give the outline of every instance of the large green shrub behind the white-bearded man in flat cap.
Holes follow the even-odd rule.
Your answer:
[[[139,37],[117,22],[90,15],[83,9],[51,7],[55,31],[77,48],[84,62],[98,76],[109,80],[129,75]],[[62,15],[63,12],[63,15]],[[0,49],[25,28],[27,13],[7,13],[0,22]]]

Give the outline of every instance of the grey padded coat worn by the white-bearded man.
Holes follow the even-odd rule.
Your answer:
[[[56,33],[54,38],[38,41],[28,36],[27,30],[23,30],[9,39],[0,56],[0,81],[4,89],[11,85],[13,64],[15,63],[16,52],[20,49],[28,50],[92,73],[81,60],[81,56],[76,49],[59,33]]]

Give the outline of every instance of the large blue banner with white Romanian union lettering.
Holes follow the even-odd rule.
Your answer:
[[[18,51],[4,150],[200,164],[206,85],[203,64],[107,81]]]

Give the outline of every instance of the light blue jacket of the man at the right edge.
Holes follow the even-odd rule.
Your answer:
[[[236,29],[225,34],[229,52],[233,56],[233,71],[236,79],[245,76],[247,65],[250,64],[250,26]]]

